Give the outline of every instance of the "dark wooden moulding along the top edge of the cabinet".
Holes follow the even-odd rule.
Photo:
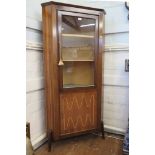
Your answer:
[[[58,5],[58,6],[75,7],[75,8],[79,8],[79,9],[88,9],[88,10],[94,10],[94,11],[99,11],[99,12],[102,11],[104,14],[106,14],[104,9],[87,7],[87,6],[81,6],[81,5],[75,5],[75,4],[66,4],[66,3],[54,2],[54,1],[45,2],[45,3],[42,3],[41,5],[43,7],[43,6],[47,6],[47,5],[51,5],[51,4]],[[99,14],[99,12],[98,12],[98,14]]]

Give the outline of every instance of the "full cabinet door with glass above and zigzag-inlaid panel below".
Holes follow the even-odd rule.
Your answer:
[[[60,134],[97,128],[98,16],[58,12]]]

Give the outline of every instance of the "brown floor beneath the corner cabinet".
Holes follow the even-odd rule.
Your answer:
[[[123,155],[123,137],[105,135],[85,135],[65,139],[53,143],[51,152],[47,151],[45,143],[35,151],[35,155]]]

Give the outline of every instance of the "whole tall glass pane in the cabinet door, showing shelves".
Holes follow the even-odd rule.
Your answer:
[[[94,85],[95,19],[62,16],[63,88]]]

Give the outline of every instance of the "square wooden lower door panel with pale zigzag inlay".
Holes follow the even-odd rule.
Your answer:
[[[97,128],[96,91],[60,94],[61,135]]]

